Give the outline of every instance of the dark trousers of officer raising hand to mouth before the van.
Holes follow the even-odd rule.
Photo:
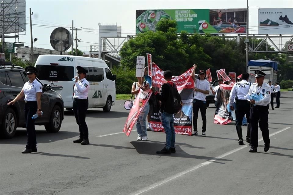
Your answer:
[[[79,138],[81,140],[88,140],[89,129],[85,123],[85,115],[89,107],[89,101],[88,99],[74,98],[72,107],[73,107],[76,123],[78,124],[78,127],[79,127]]]

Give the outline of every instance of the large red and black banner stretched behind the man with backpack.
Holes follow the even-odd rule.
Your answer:
[[[161,85],[165,83],[165,79],[163,77],[164,71],[154,63],[152,68],[152,86],[159,91]],[[183,102],[181,110],[174,116],[174,129],[177,134],[191,135],[192,133],[192,100],[194,88],[194,80],[191,78],[192,69],[193,67],[180,76],[172,77],[172,82],[175,83]],[[157,102],[157,105],[158,104],[159,102]],[[153,106],[153,109],[151,110],[150,123],[154,131],[164,131],[159,106]]]

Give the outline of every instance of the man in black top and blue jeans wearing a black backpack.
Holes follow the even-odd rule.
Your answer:
[[[178,90],[176,89],[175,83],[172,82],[172,72],[171,70],[166,70],[164,72],[164,79],[166,83],[163,83],[160,88],[160,93],[156,91],[154,87],[151,90],[156,95],[156,98],[162,102],[161,104],[161,120],[162,125],[166,133],[166,146],[161,150],[157,151],[157,154],[171,154],[175,153],[175,129],[174,129],[174,114],[179,112],[172,112],[175,104],[182,105],[182,101]],[[171,101],[169,101],[171,99]]]

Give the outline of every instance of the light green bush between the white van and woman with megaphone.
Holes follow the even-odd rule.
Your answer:
[[[116,94],[131,94],[132,83],[137,79],[135,77],[135,69],[118,66],[112,69],[112,73],[116,74]]]

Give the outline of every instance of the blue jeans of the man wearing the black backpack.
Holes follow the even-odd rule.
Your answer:
[[[166,133],[166,148],[175,148],[174,114],[161,112],[161,120]]]

